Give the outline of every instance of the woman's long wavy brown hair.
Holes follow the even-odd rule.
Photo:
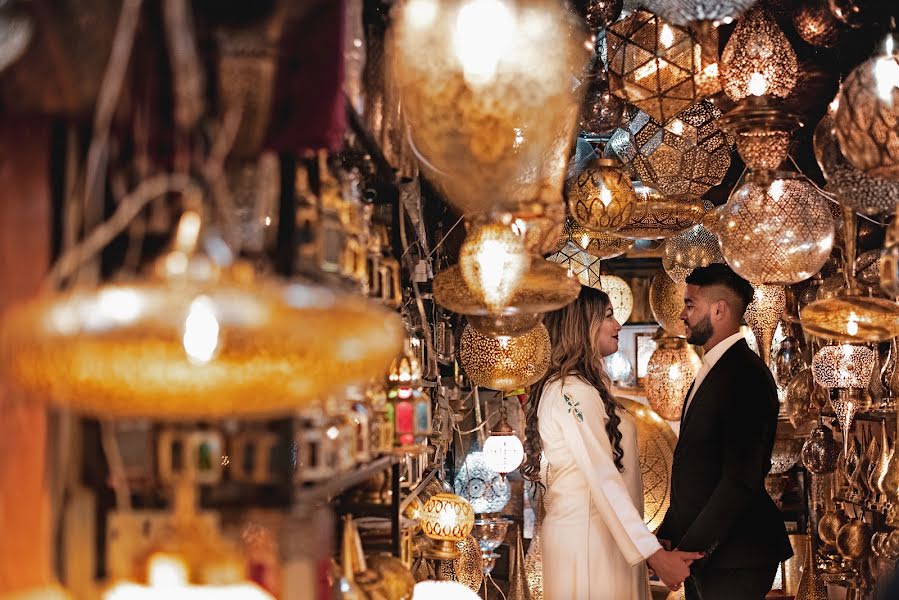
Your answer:
[[[578,377],[599,391],[606,414],[609,416],[608,423],[606,423],[606,435],[609,436],[609,441],[612,443],[615,466],[619,471],[624,469],[621,462],[624,458],[624,450],[621,449],[621,431],[618,428],[621,423],[621,417],[618,416],[620,407],[609,392],[611,380],[603,368],[602,357],[599,355],[598,349],[593,347],[593,336],[591,335],[591,332],[594,331],[593,328],[605,319],[610,304],[609,297],[605,292],[583,286],[574,302],[557,311],[547,313],[543,318],[543,323],[549,331],[552,355],[546,375],[531,387],[528,394],[524,443],[525,463],[520,471],[530,481],[539,481],[540,479],[540,453],[543,450],[540,431],[537,427],[540,396],[548,383],[565,377]]]

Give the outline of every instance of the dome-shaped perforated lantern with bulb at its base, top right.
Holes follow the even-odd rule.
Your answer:
[[[721,81],[733,100],[786,98],[796,85],[796,52],[763,8],[749,9],[721,53]]]

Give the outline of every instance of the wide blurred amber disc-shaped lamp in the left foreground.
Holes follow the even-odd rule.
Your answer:
[[[395,313],[305,283],[217,268],[188,211],[155,275],[43,295],[0,324],[4,378],[104,417],[276,415],[381,377],[402,348]]]

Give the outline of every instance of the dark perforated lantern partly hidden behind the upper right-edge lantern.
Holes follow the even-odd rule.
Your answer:
[[[872,177],[853,167],[840,151],[831,113],[815,128],[815,158],[827,179],[827,189],[840,204],[864,215],[892,212],[899,203],[899,181]]]

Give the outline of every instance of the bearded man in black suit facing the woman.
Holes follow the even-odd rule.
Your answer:
[[[765,491],[777,428],[777,388],[740,333],[753,288],[712,264],[687,277],[681,320],[705,349],[687,393],[674,451],[663,544],[704,552],[688,600],[759,600],[792,556],[780,511]]]

